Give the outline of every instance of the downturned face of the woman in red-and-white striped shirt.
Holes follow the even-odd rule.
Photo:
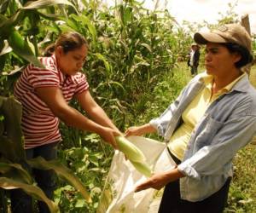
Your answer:
[[[84,65],[87,51],[88,49],[85,44],[78,49],[68,51],[66,54],[61,46],[57,47],[55,55],[57,64],[61,68],[61,72],[67,75],[75,75],[79,72]]]

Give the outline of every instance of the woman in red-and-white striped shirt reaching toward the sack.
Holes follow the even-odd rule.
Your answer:
[[[84,73],[80,72],[88,53],[88,44],[78,32],[65,32],[58,37],[49,57],[40,58],[45,68],[28,65],[15,84],[15,97],[22,104],[21,128],[25,137],[26,158],[57,157],[61,141],[60,119],[79,130],[95,132],[113,147],[114,137],[121,135],[93,97]],[[89,118],[70,107],[75,98]],[[26,165],[27,166],[27,165]],[[30,169],[31,170],[31,169]],[[53,199],[55,176],[52,170],[32,170],[38,186]],[[12,190],[13,213],[32,212],[32,198],[20,189]],[[44,202],[38,202],[40,212],[49,212]]]

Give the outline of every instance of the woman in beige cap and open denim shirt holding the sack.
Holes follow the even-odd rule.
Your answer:
[[[223,212],[232,158],[256,133],[256,91],[241,71],[253,59],[247,31],[230,24],[197,32],[194,39],[206,44],[206,72],[193,78],[159,118],[125,133],[164,136],[177,163],[136,188],[166,186],[160,213]]]

